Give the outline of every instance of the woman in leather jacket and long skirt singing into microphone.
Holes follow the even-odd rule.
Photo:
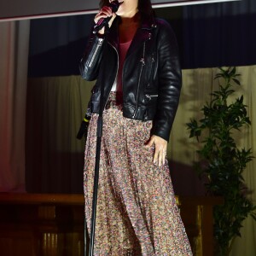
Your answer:
[[[81,73],[92,90],[84,160],[90,233],[96,123],[101,86],[103,129],[95,255],[192,255],[166,160],[181,72],[171,27],[154,19],[150,0],[124,0],[113,14],[102,0]]]

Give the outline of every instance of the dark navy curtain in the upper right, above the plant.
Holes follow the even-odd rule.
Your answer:
[[[183,68],[256,63],[256,1],[183,8]]]

